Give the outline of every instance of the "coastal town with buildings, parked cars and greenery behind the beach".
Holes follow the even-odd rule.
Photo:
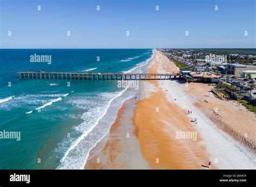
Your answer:
[[[227,53],[225,49],[159,49],[180,68],[189,82],[212,83],[220,99],[237,99],[256,112],[256,51]],[[215,54],[214,54],[215,53]],[[245,54],[242,54],[245,53]]]

